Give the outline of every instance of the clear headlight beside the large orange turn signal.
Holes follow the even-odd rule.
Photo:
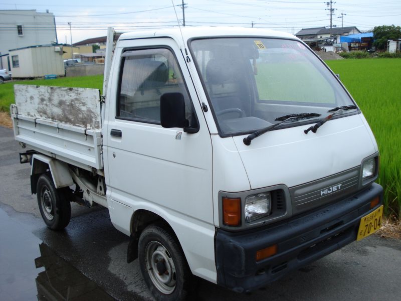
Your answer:
[[[270,214],[270,192],[258,193],[245,199],[245,220],[250,223]]]

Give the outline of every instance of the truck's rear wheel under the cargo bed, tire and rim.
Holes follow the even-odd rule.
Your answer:
[[[45,224],[52,230],[67,227],[71,218],[71,204],[65,197],[65,189],[56,189],[49,174],[41,175],[36,187],[39,210]]]

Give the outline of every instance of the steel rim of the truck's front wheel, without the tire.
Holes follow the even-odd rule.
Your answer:
[[[177,275],[170,253],[157,241],[151,241],[146,246],[145,253],[146,268],[154,286],[162,293],[172,293],[177,282]]]

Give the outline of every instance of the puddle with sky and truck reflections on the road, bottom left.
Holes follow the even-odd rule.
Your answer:
[[[115,300],[1,208],[0,298]]]

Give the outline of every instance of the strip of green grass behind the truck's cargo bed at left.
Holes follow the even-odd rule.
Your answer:
[[[60,77],[57,79],[37,79],[25,81],[10,81],[0,85],[0,112],[9,112],[10,105],[14,103],[14,85],[42,85],[59,87],[80,87],[102,89],[103,75],[82,77]]]

